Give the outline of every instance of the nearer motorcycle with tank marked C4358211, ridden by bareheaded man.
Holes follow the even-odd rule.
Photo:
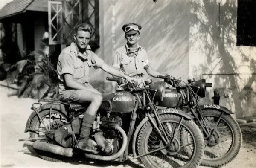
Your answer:
[[[181,110],[158,110],[154,101],[163,100],[166,83],[140,88],[121,78],[107,78],[120,85],[119,91],[103,96],[90,131],[90,141],[100,146],[97,154],[74,148],[79,138],[85,106],[70,101],[39,100],[25,132],[29,150],[53,162],[79,156],[86,160],[123,162],[128,149],[147,168],[195,168],[204,154],[204,138],[193,117]],[[36,107],[38,106],[38,107]],[[32,148],[31,148],[32,147]]]

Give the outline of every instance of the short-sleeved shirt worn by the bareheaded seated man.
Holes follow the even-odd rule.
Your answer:
[[[79,52],[76,43],[71,43],[70,46],[62,50],[58,58],[57,73],[61,80],[59,91],[69,90],[64,84],[63,74],[69,73],[73,75],[73,79],[81,84],[89,82],[90,67],[100,68],[104,61],[91,51],[88,45],[84,53]]]

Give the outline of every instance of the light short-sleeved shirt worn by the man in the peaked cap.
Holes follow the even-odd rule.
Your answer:
[[[113,67],[119,68],[130,77],[143,75],[144,69],[147,69],[149,66],[148,55],[145,49],[137,45],[136,49],[131,50],[127,44],[116,49],[112,63]]]

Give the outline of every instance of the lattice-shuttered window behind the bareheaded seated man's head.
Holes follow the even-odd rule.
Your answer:
[[[49,44],[67,44],[73,41],[75,27],[89,23],[94,33],[90,46],[99,46],[99,0],[48,1]]]

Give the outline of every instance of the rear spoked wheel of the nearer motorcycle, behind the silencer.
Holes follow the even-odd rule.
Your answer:
[[[30,127],[34,131],[30,132],[30,138],[44,138],[40,141],[55,144],[54,141],[46,137],[47,129],[45,127],[47,127],[50,132],[54,133],[54,131],[63,126],[64,123],[67,123],[67,117],[55,110],[52,110],[51,114],[50,110],[44,110],[40,112],[40,116],[43,122],[40,121],[38,116],[35,116],[31,121]],[[66,159],[65,156],[52,154],[32,147],[29,147],[29,151],[35,151],[42,159],[51,162],[63,162]]]

